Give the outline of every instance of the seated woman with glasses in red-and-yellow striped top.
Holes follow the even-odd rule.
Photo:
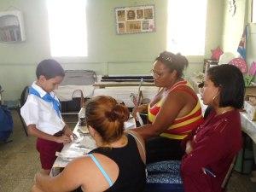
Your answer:
[[[201,105],[195,91],[182,78],[188,60],[183,55],[162,52],[154,62],[154,84],[160,91],[148,106],[148,125],[137,131],[147,139],[147,163],[160,160],[181,160],[184,151],[181,141],[202,122]]]

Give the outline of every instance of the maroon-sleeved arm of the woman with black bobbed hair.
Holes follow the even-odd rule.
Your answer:
[[[233,153],[227,141],[230,142],[231,137],[233,139],[232,130],[236,125],[229,121],[219,121],[212,125],[211,129],[208,128],[209,130],[203,135],[197,135],[196,143],[194,141],[190,143],[192,150],[183,157],[181,166],[185,174],[193,175],[194,172],[201,171],[202,167],[211,165],[224,155]]]

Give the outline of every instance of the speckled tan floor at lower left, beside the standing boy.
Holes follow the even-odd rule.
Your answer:
[[[30,191],[33,177],[40,169],[35,138],[26,137],[20,119],[15,118],[13,142],[0,144],[0,192]]]

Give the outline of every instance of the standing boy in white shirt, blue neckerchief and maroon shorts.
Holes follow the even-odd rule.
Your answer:
[[[36,74],[37,80],[29,88],[29,95],[20,113],[29,135],[38,137],[37,149],[42,172],[49,175],[56,159],[55,152],[61,151],[63,143],[71,142],[73,132],[64,123],[60,102],[53,92],[65,76],[60,63],[55,60],[41,61]]]

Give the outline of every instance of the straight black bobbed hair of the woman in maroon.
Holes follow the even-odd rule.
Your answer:
[[[239,68],[229,64],[211,67],[207,76],[220,87],[219,107],[242,108],[245,84]]]

